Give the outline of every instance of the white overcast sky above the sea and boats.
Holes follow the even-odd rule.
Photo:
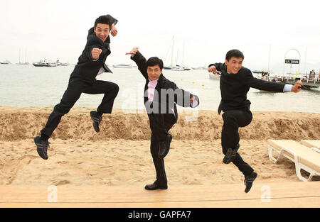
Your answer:
[[[267,69],[284,61],[290,48],[304,62],[320,62],[320,8],[317,1],[1,1],[0,61],[43,58],[76,63],[95,18],[117,18],[107,64],[130,63],[125,52],[139,47],[145,57],[158,56],[189,67],[223,62],[233,48],[245,54],[244,65]],[[298,59],[297,52],[286,58]],[[319,67],[320,68],[320,67]]]

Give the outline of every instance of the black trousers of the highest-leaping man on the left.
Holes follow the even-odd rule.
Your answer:
[[[41,135],[50,138],[55,128],[61,121],[62,116],[70,111],[82,92],[85,94],[105,94],[97,111],[111,113],[113,102],[117,96],[119,87],[113,82],[97,80],[93,83],[82,82],[80,79],[70,79],[68,88],[63,94],[60,104],[57,104],[50,114],[46,126],[41,130]]]

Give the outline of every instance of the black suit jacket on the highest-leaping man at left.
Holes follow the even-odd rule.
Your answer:
[[[107,16],[110,17],[114,25],[117,23],[117,19],[110,15]],[[92,60],[92,48],[100,48],[102,50],[97,61]],[[95,82],[97,73],[101,67],[104,68],[105,72],[111,72],[107,65],[105,65],[105,60],[107,60],[107,56],[110,55],[110,53],[110,36],[103,42],[95,35],[94,28],[90,28],[87,35],[87,44],[78,59],[78,64],[75,65],[75,69],[70,75],[70,80],[81,79],[83,82],[92,83]]]

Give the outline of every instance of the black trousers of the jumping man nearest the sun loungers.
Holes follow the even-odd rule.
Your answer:
[[[221,135],[221,145],[225,154],[228,148],[235,149],[240,141],[239,127],[248,126],[252,121],[252,113],[250,110],[230,110],[223,113],[223,130]],[[248,165],[242,157],[237,153],[233,164],[245,176],[253,172],[252,167]]]

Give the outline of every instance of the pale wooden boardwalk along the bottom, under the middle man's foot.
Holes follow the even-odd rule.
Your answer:
[[[214,208],[320,207],[320,182],[171,186],[146,191],[141,187],[0,186],[0,207]]]

